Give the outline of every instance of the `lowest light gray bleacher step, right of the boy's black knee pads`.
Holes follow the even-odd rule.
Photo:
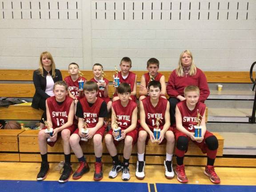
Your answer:
[[[256,133],[220,132],[224,155],[256,155]]]

